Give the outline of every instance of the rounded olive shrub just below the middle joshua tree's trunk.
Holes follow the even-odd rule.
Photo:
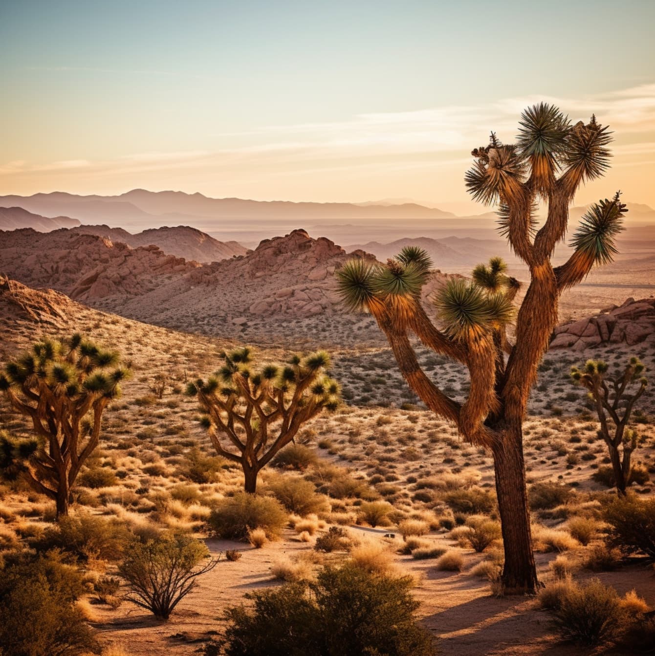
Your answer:
[[[260,528],[272,540],[281,535],[287,512],[273,497],[239,492],[222,500],[212,510],[207,523],[219,537],[247,540],[249,531]]]

